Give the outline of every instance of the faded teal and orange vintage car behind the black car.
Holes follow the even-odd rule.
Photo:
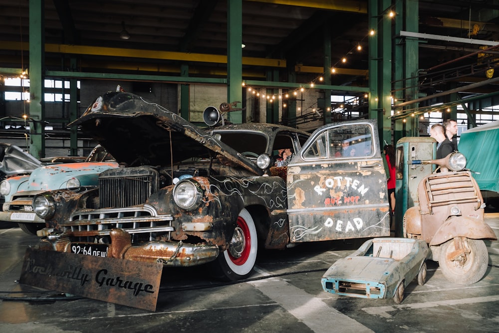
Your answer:
[[[45,221],[34,213],[31,205],[36,194],[97,185],[99,173],[118,166],[114,158],[98,145],[84,162],[38,164],[30,174],[7,177],[0,183],[0,193],[5,198],[0,221],[15,222],[27,234],[36,235],[36,231],[45,227]]]

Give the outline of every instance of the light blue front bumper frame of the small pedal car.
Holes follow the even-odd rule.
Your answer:
[[[374,299],[386,297],[386,286],[379,282],[322,278],[320,283],[322,289],[331,294]]]

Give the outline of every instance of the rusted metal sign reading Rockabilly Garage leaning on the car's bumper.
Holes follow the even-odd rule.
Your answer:
[[[161,263],[26,249],[20,282],[95,300],[156,310]]]

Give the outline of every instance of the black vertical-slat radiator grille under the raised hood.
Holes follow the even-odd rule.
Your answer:
[[[99,176],[100,207],[143,204],[157,190],[158,178],[158,172],[147,166],[106,170]]]

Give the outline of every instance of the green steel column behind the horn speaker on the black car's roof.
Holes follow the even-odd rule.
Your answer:
[[[243,100],[243,0],[227,0],[227,11],[227,98],[232,103]],[[230,112],[228,118],[241,124],[243,113]]]

